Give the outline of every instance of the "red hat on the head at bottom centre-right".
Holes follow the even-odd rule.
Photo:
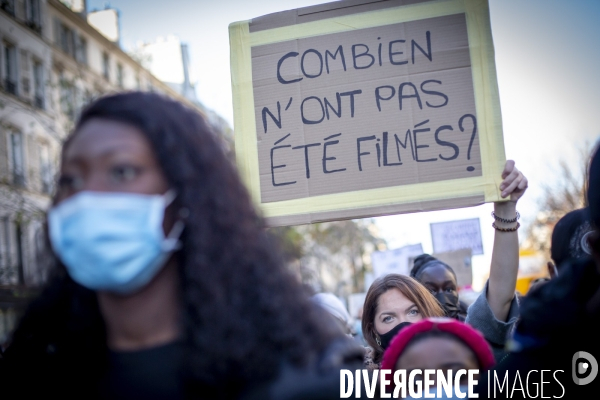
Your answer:
[[[496,364],[490,345],[479,331],[452,318],[428,318],[407,326],[392,339],[390,346],[383,354],[381,369],[393,371],[398,358],[415,336],[433,330],[456,336],[475,353],[481,369],[489,369]]]

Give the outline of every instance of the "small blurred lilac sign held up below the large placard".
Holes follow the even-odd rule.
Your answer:
[[[430,227],[434,252],[471,249],[473,255],[483,254],[479,218],[436,222]]]

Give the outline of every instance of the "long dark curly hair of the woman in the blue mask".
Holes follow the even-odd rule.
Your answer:
[[[71,138],[92,119],[138,128],[176,190],[177,206],[189,210],[178,253],[189,393],[236,397],[250,383],[275,378],[282,362],[306,365],[340,337],[272,248],[233,163],[201,115],[159,94],[121,93],[89,105]],[[75,374],[56,378],[63,383],[93,381],[107,353],[96,296],[54,259],[55,277],[30,306],[13,344],[28,354],[33,348],[55,353]]]

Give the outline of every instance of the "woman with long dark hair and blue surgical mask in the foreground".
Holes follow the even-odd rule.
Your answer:
[[[54,278],[0,360],[3,392],[285,398],[311,382],[338,393],[339,368],[360,367],[271,249],[217,136],[180,103],[134,92],[88,106],[48,233]]]

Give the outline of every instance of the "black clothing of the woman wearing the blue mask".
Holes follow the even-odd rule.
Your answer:
[[[12,347],[12,346],[11,346]],[[9,347],[0,358],[0,397],[62,399],[217,398],[214,387],[187,393],[182,374],[185,347],[170,343],[135,352],[106,352],[104,365],[90,365],[85,351],[75,357],[57,345],[27,343]],[[240,400],[338,399],[340,370],[363,367],[364,350],[346,336],[333,341],[313,362],[295,366],[282,361],[279,375],[240,391]],[[75,361],[73,361],[75,360]],[[93,388],[98,388],[96,391]],[[364,396],[363,388],[362,394]],[[354,396],[353,396],[354,398]]]

